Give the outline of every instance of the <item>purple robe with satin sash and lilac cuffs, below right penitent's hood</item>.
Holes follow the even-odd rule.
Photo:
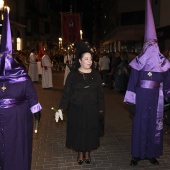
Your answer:
[[[131,70],[124,102],[136,104],[132,122],[133,157],[146,159],[162,155],[163,100],[170,92],[168,76],[168,71],[137,71],[133,68]]]

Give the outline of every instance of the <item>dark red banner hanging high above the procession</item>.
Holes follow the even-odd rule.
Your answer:
[[[73,43],[80,40],[80,14],[62,13],[62,42]]]

